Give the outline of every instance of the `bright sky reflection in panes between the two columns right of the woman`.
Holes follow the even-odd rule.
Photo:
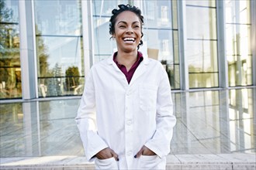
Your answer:
[[[217,71],[216,8],[187,6],[186,21],[188,63],[197,68],[191,71]]]

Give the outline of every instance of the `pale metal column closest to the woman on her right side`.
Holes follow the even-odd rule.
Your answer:
[[[186,58],[186,7],[185,1],[177,1],[178,5],[178,46],[180,59],[181,90],[189,90],[189,66]]]

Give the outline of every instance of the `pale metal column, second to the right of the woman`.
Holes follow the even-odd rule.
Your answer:
[[[219,64],[219,86],[228,88],[228,66],[226,55],[225,1],[216,1],[217,48]]]

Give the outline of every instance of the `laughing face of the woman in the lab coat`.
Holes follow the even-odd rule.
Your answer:
[[[137,51],[141,39],[141,24],[139,17],[130,11],[121,12],[116,17],[115,33],[118,50],[126,53]]]

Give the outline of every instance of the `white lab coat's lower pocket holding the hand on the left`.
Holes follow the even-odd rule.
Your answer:
[[[118,163],[114,157],[107,159],[95,159],[95,169],[118,169]]]

